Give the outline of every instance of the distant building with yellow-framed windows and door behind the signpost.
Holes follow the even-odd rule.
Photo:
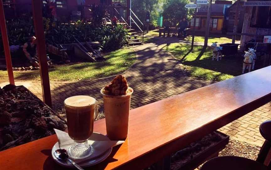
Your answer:
[[[223,29],[223,23],[225,18],[225,12],[227,8],[231,6],[231,1],[215,1],[211,7],[211,19],[210,19],[210,32],[220,33]],[[198,15],[196,18],[196,30],[205,31],[207,23],[207,5],[201,5],[198,9]],[[190,28],[194,27],[194,18],[189,23]]]

